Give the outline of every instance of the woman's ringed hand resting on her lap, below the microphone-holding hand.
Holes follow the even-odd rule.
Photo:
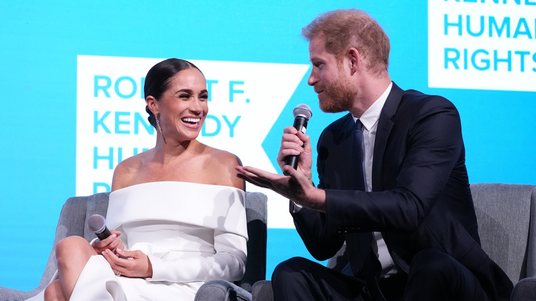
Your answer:
[[[114,254],[109,249],[106,249],[102,252],[102,256],[108,260],[110,267],[117,276],[131,278],[153,277],[153,265],[150,264],[149,257],[142,251],[116,249]],[[119,256],[128,259],[120,258]]]

